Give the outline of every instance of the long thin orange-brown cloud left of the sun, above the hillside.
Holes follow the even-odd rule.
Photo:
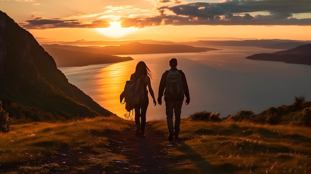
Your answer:
[[[60,18],[45,19],[34,17],[20,24],[25,29],[47,29],[47,28],[97,28],[109,27],[109,23],[103,20],[82,22],[78,20],[66,20]]]

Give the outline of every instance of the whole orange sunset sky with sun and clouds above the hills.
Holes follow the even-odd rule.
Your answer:
[[[39,43],[311,40],[311,0],[0,0],[0,10]]]

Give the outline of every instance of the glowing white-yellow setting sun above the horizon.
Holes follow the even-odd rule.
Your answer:
[[[109,24],[108,28],[96,28],[96,30],[100,34],[113,38],[119,38],[137,30],[135,27],[123,28],[121,23],[117,21],[110,22]]]

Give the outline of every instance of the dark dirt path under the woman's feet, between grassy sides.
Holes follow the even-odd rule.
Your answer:
[[[122,135],[113,136],[116,141],[114,153],[128,159],[117,162],[121,174],[165,174],[165,168],[176,163],[167,158],[167,149],[172,145],[167,134],[147,123],[145,135],[144,138],[136,137],[134,126],[131,130],[123,130]]]

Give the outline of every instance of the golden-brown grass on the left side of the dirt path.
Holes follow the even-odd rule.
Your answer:
[[[10,132],[0,133],[0,173],[3,174],[1,170],[4,169],[9,171],[4,174],[68,173],[68,166],[74,166],[71,163],[79,163],[76,165],[79,168],[73,169],[77,174],[92,166],[113,171],[113,160],[126,157],[111,152],[109,135],[128,128],[130,124],[130,121],[110,116],[67,123],[13,125]],[[78,162],[68,161],[68,155],[77,156]],[[68,166],[61,168],[56,163],[42,163],[48,158],[64,160],[60,163]]]

